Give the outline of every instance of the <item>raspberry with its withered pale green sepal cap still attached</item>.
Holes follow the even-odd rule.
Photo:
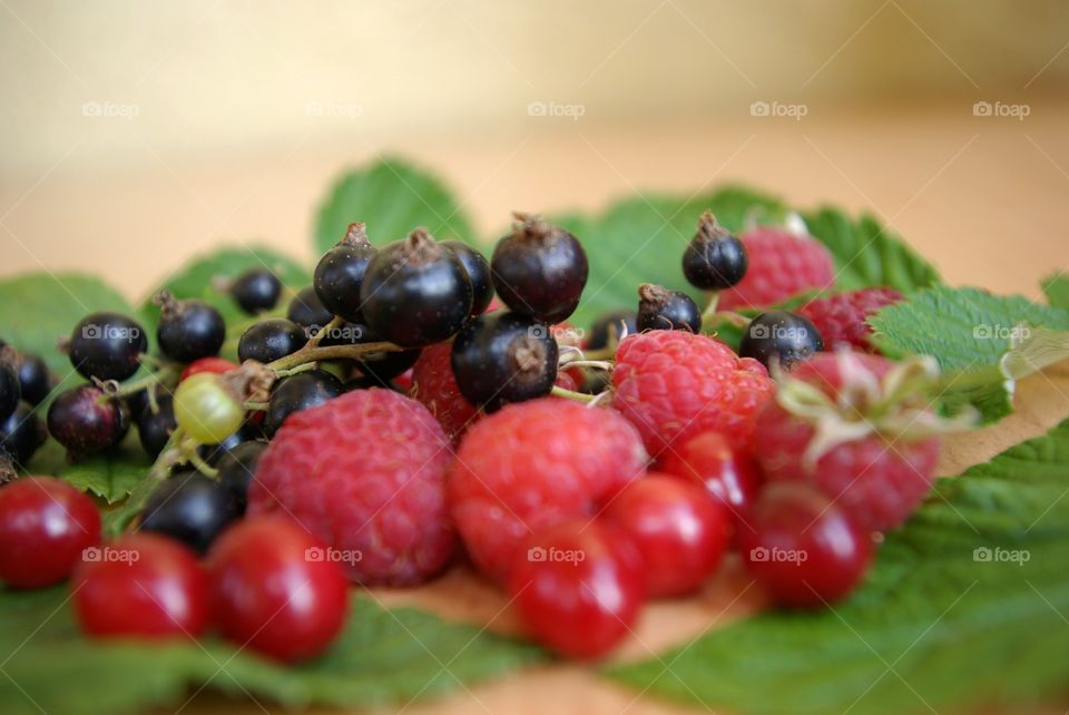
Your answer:
[[[915,373],[922,364],[849,352],[802,363],[758,422],[762,473],[810,482],[866,529],[902,523],[929,492],[939,458],[933,435],[942,423]],[[920,391],[903,392],[903,375]],[[813,401],[814,388],[827,399],[823,407]],[[804,410],[793,407],[798,393]]]

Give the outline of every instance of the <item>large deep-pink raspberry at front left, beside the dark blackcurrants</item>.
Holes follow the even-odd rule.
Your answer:
[[[356,390],[286,420],[259,459],[248,512],[296,519],[335,549],[354,581],[418,584],[453,554],[450,456],[422,404]]]

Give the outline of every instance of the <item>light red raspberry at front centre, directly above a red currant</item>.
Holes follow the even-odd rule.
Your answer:
[[[645,463],[635,428],[611,410],[541,398],[508,405],[468,431],[449,503],[472,560],[503,580],[532,531],[592,516]]]

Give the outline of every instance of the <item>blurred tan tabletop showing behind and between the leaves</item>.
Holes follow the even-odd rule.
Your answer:
[[[885,107],[803,121],[722,117],[657,126],[582,120],[552,131],[474,140],[415,137],[391,147],[444,174],[483,235],[512,208],[594,209],[635,190],[689,193],[742,180],[802,206],[871,210],[929,256],[952,284],[1038,296],[1041,276],[1069,266],[1069,106],[1037,102],[1023,123],[977,118],[971,107]],[[165,158],[97,172],[62,165],[47,176],[0,178],[0,273],[81,268],[139,295],[184,257],[219,236],[263,236],[312,261],[311,216],[328,180],[374,156],[362,141],[316,137],[269,156]],[[300,286],[296,286],[300,287]],[[9,310],[4,306],[4,310]],[[957,473],[1069,415],[1069,366],[1026,380],[1018,413],[949,440],[943,473]],[[448,618],[513,631],[502,596],[462,568],[422,588],[375,590],[384,604],[414,604]],[[762,607],[732,565],[699,596],[651,605],[618,658],[641,658]],[[1011,657],[1011,654],[1007,654]],[[276,709],[272,704],[264,706]],[[553,665],[459,687],[406,713],[684,712],[618,688],[575,665]],[[1061,707],[1050,712],[1063,713]],[[161,709],[161,713],[169,709]],[[252,702],[206,694],[183,711],[259,713]]]

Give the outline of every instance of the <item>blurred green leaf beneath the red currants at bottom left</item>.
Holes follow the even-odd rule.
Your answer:
[[[354,597],[334,646],[300,666],[214,638],[200,645],[89,641],[66,599],[62,588],[0,594],[4,715],[173,709],[200,686],[288,708],[403,706],[543,658],[510,638],[411,608],[385,610],[364,596]]]

